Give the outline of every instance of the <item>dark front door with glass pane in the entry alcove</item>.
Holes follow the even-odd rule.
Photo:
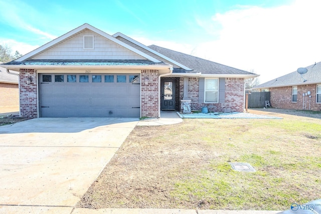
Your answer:
[[[162,82],[162,110],[175,110],[175,79],[164,78]]]

